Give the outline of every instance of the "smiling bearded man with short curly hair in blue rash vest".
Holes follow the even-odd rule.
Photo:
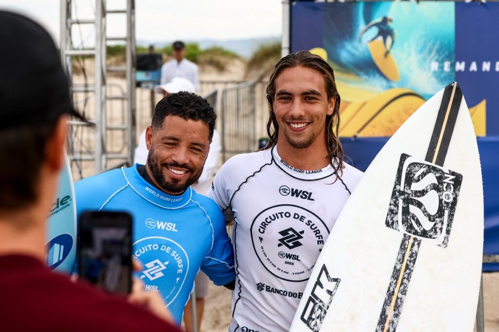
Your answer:
[[[134,218],[133,256],[139,277],[161,293],[180,325],[198,271],[234,288],[234,256],[218,206],[190,187],[209,151],[217,115],[205,99],[170,94],[147,127],[146,165],[135,164],[75,184],[78,216],[85,210],[127,211]]]

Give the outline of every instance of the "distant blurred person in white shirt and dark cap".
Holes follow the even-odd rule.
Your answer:
[[[188,79],[194,84],[196,91],[199,90],[199,69],[198,66],[187,60],[185,45],[181,41],[176,41],[172,44],[173,56],[172,59],[166,62],[161,67],[161,85],[167,84],[175,77]]]

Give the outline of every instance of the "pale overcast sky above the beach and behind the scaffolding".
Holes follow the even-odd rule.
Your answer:
[[[95,0],[73,0],[78,18],[93,17]],[[125,0],[107,0],[109,9],[124,7]],[[1,9],[23,13],[44,26],[59,40],[60,0],[0,0]],[[136,0],[137,39],[242,39],[278,36],[282,31],[280,0]],[[93,39],[82,26],[82,39]],[[109,14],[108,36],[123,36],[124,15]],[[79,35],[80,31],[73,31]],[[86,44],[85,44],[86,45]]]

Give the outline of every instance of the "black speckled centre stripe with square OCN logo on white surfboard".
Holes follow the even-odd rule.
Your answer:
[[[422,245],[421,242],[431,242],[446,247],[449,241],[463,177],[444,169],[443,165],[453,137],[462,100],[463,93],[459,85],[456,82],[449,84],[444,89],[425,161],[416,160],[406,154],[402,154],[400,157],[386,225],[400,230],[403,233],[403,238],[393,266],[376,331],[395,332],[397,329],[412,273],[416,266],[419,248]],[[435,180],[428,175],[430,173],[433,174]],[[426,176],[429,178],[423,180]],[[433,184],[434,182],[437,183],[437,186]],[[413,183],[415,183],[414,187]],[[438,194],[438,199],[435,198],[435,195],[432,195],[434,198],[428,196],[428,193],[432,191]],[[423,193],[423,195],[417,195],[417,192]],[[422,203],[422,206],[416,201]],[[415,208],[421,210],[421,213],[418,213],[419,216],[411,212],[411,203],[416,203]],[[403,210],[404,206],[406,210]],[[413,211],[418,211],[415,208]],[[408,215],[402,217],[402,212]],[[426,221],[429,221],[426,223],[429,229],[424,227],[421,229]],[[426,237],[421,236],[421,234],[426,235]],[[436,234],[440,234],[440,236],[435,238]]]

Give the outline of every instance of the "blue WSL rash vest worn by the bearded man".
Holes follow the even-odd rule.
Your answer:
[[[211,199],[189,187],[168,195],[144,180],[135,164],[78,181],[77,216],[83,211],[126,211],[133,216],[133,256],[146,290],[158,291],[178,325],[199,269],[216,285],[236,278],[224,216]]]

